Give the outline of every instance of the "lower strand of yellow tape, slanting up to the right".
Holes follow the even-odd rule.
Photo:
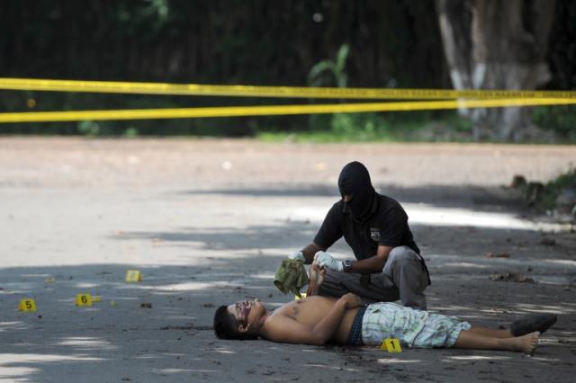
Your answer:
[[[207,117],[355,113],[367,111],[421,111],[460,108],[501,108],[504,106],[569,104],[576,104],[576,98],[517,98],[500,100],[446,100],[423,102],[362,102],[316,105],[225,106],[210,108],[135,109],[109,111],[26,111],[0,113],[0,123],[42,121],[55,122],[77,120],[192,119]]]

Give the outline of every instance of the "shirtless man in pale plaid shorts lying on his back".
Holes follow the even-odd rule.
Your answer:
[[[380,344],[385,338],[398,338],[407,347],[532,353],[539,335],[556,322],[554,315],[531,316],[512,323],[509,330],[491,330],[395,303],[363,306],[362,299],[352,293],[341,298],[315,296],[324,273],[317,264],[312,264],[310,274],[310,295],[288,302],[272,313],[257,300],[219,307],[214,315],[216,335],[222,339],[261,336],[280,343],[356,345]]]

